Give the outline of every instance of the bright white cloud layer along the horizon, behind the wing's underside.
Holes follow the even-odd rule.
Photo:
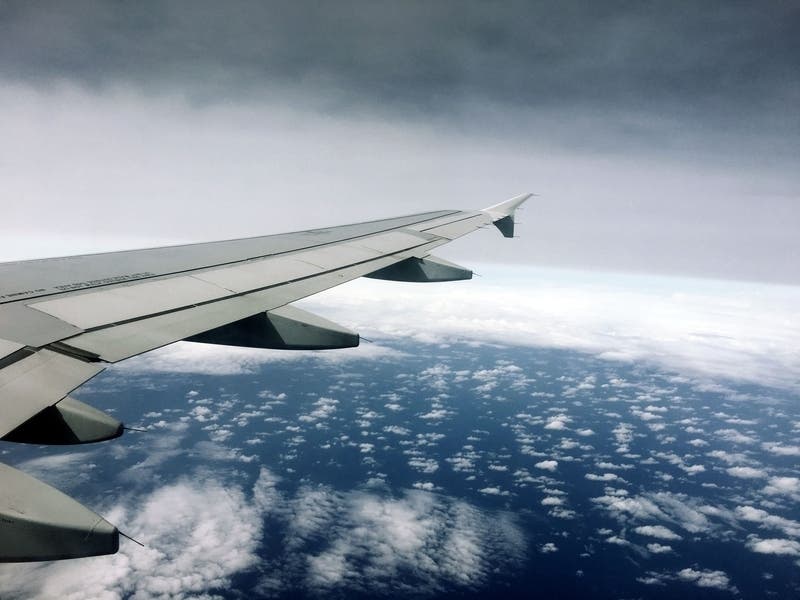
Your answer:
[[[481,269],[462,284],[359,280],[301,305],[374,343],[284,352],[178,343],[116,366],[121,373],[253,373],[261,364],[401,361],[388,340],[578,350],[665,368],[721,390],[730,382],[800,389],[800,290],[734,282]],[[711,389],[710,388],[710,389]]]

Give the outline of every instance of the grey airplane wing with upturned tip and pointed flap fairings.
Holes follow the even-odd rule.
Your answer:
[[[297,233],[0,264],[0,439],[79,444],[122,434],[70,397],[111,363],[180,340],[257,348],[357,346],[292,302],[356,279],[453,281],[431,256],[494,223],[514,235],[530,194]],[[0,464],[0,562],[111,554],[119,532],[54,488]]]

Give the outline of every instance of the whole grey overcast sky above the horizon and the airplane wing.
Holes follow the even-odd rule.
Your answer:
[[[794,2],[0,2],[0,259],[539,194],[499,263],[800,282]]]

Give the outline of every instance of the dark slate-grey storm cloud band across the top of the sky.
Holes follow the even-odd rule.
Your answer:
[[[794,2],[0,4],[5,78],[327,108],[462,101],[798,130]],[[756,119],[757,123],[753,122]]]

